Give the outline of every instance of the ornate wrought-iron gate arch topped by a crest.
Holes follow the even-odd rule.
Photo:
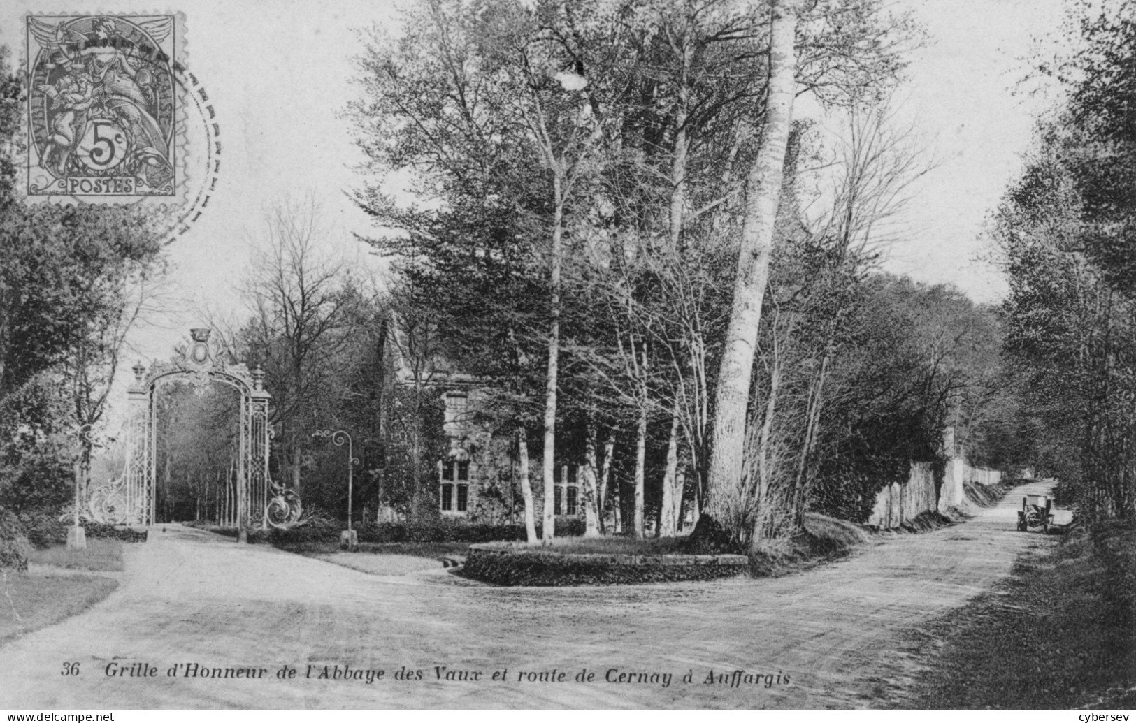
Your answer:
[[[236,473],[236,523],[241,529],[254,526],[286,527],[299,518],[299,498],[275,485],[268,476],[268,449],[272,430],[265,372],[258,367],[231,363],[228,354],[211,343],[211,329],[190,329],[191,341],[174,346],[168,362],[154,362],[150,369],[134,365],[134,384],[127,392],[126,469],[124,474],[92,491],[91,516],[114,524],[153,524],[157,520],[157,424],[154,394],[170,381],[207,384],[219,381],[241,395]],[[282,503],[282,498],[286,502]],[[269,504],[276,513],[268,518]],[[281,505],[287,507],[279,514]]]

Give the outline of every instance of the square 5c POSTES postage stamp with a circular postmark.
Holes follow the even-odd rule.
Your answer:
[[[181,16],[27,16],[27,199],[184,199]]]

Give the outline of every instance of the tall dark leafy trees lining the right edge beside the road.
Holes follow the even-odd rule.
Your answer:
[[[994,218],[1018,427],[1091,516],[1136,515],[1136,6],[1081,6],[1067,90]]]

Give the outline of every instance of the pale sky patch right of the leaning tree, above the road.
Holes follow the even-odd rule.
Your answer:
[[[889,270],[922,281],[950,281],[977,301],[1006,291],[979,257],[979,232],[1006,183],[1021,168],[1042,110],[1039,100],[1016,94],[1027,72],[1031,37],[1055,32],[1060,0],[911,0],[929,34],[901,90],[903,110],[933,140],[941,165],[913,190],[910,241],[893,247]]]

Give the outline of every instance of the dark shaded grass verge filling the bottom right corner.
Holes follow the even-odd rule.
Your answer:
[[[892,707],[1130,709],[1134,575],[1130,526],[1027,550],[1011,578],[913,633],[921,670]]]

